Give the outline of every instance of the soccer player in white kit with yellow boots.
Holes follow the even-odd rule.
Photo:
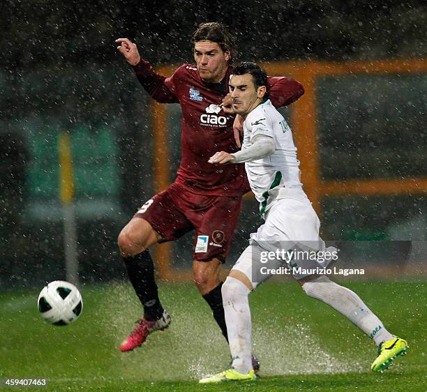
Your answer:
[[[246,172],[265,222],[250,235],[250,245],[234,264],[222,288],[232,365],[230,369],[200,380],[216,383],[256,379],[251,362],[251,320],[248,294],[271,273],[260,273],[260,260],[275,249],[297,248],[324,251],[319,237],[320,222],[299,180],[297,149],[292,131],[283,116],[267,100],[267,75],[255,63],[241,63],[230,77],[234,112],[244,119],[241,151],[220,151],[212,164],[245,163]],[[285,244],[285,245],[283,245]],[[292,245],[291,245],[292,244]],[[329,259],[330,261],[330,259]],[[289,259],[273,260],[269,267]],[[319,259],[292,260],[291,266],[322,269]],[[296,270],[298,271],[298,270]],[[382,371],[398,355],[405,354],[407,342],[391,335],[359,296],[324,275],[294,273],[308,296],[327,303],[364,331],[378,346],[373,371]]]

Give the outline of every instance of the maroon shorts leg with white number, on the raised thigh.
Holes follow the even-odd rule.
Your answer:
[[[134,218],[147,220],[160,236],[158,242],[174,241],[194,228],[177,205],[177,195],[172,185],[145,202]]]

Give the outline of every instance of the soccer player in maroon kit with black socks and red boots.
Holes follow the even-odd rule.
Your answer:
[[[182,110],[177,178],[149,199],[119,234],[130,282],[144,307],[144,317],[120,349],[132,350],[149,333],[170,324],[170,315],[158,299],[148,248],[191,230],[195,230],[193,278],[227,338],[219,272],[230,250],[242,197],[250,188],[244,165],[211,165],[208,160],[216,151],[238,150],[231,103],[228,107],[225,100],[222,105],[233,70],[232,37],[223,24],[200,24],[192,37],[197,65],[183,64],[171,77],[156,73],[140,57],[135,43],[127,38],[116,42],[147,93],[159,103],[179,103]],[[269,77],[268,84],[269,99],[276,107],[290,105],[304,93],[299,82],[287,77]]]

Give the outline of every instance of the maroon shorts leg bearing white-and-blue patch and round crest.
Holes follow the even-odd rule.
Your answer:
[[[220,262],[225,262],[239,221],[241,206],[241,197],[216,197],[200,213],[200,220],[195,223],[193,259],[204,261],[217,258]]]

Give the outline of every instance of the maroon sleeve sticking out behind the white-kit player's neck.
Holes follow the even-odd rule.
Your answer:
[[[304,94],[303,85],[291,77],[269,76],[267,82],[267,93],[274,107],[290,105]]]

